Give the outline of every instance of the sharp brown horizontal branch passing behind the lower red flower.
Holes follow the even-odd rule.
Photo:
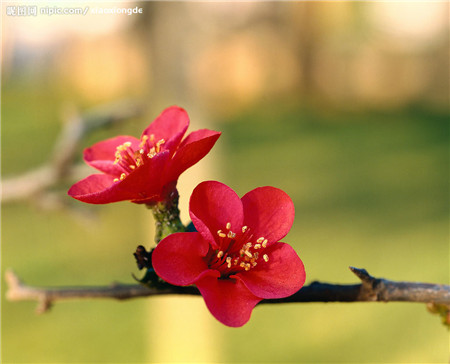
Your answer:
[[[340,285],[313,282],[290,297],[263,300],[261,303],[287,302],[422,302],[450,306],[450,286],[442,284],[396,282],[374,278],[365,269],[350,267],[361,284]],[[126,300],[138,297],[167,294],[199,295],[195,287],[177,287],[164,283],[156,287],[139,284],[114,283],[101,287],[40,288],[24,284],[17,275],[8,270],[6,297],[10,301],[36,300],[37,311],[45,312],[52,303],[62,300],[108,298]]]

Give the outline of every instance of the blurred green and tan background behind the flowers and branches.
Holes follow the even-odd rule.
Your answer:
[[[2,4],[2,179],[45,163],[63,111],[133,99],[145,113],[83,146],[140,135],[178,104],[191,130],[223,132],[179,180],[240,195],[285,190],[290,243],[314,280],[377,277],[449,284],[448,4],[87,2],[142,15],[14,17]],[[39,6],[54,6],[40,4]],[[65,3],[67,7],[79,3]],[[401,16],[400,16],[401,15]],[[67,106],[69,105],[69,106]],[[64,146],[62,147],[64,148]],[[82,148],[77,152],[81,162]],[[82,173],[90,173],[90,170]],[[132,283],[150,246],[149,211],[83,205],[74,181],[2,205],[2,277],[37,286]],[[39,198],[42,197],[42,198]],[[227,328],[199,297],[70,301],[36,315],[5,300],[4,363],[443,363],[448,330],[415,303],[257,307]]]

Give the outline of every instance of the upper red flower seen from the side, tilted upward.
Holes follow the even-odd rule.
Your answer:
[[[79,181],[68,194],[93,204],[165,200],[180,174],[202,159],[220,136],[202,129],[182,141],[188,126],[186,111],[172,106],[144,130],[140,140],[118,136],[94,144],[84,151],[84,160],[103,173]]]

